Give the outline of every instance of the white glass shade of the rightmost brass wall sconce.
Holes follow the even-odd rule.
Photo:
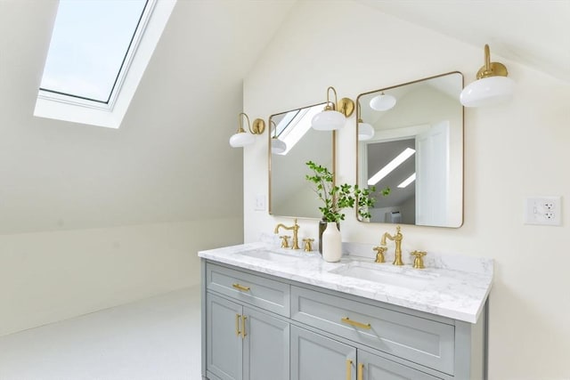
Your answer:
[[[484,77],[461,91],[460,102],[465,107],[484,107],[509,101],[515,82],[509,77]]]

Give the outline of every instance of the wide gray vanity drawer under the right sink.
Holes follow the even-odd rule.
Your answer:
[[[455,327],[291,287],[291,319],[453,375]]]

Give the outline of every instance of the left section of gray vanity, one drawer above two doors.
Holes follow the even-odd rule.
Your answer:
[[[204,285],[208,377],[289,380],[289,284],[208,264]]]

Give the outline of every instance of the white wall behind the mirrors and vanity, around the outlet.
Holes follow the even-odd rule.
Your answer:
[[[463,44],[354,2],[299,2],[244,83],[244,108],[256,117],[314,104],[334,85],[341,97],[460,70],[471,82],[483,46]],[[465,111],[465,208],[460,229],[403,226],[403,247],[491,257],[489,376],[563,379],[570,352],[567,268],[570,227],[570,86],[494,56],[517,81],[517,97],[500,107]],[[338,133],[338,177],[355,178],[355,120]],[[254,211],[266,194],[267,146],[244,150],[245,240],[270,232],[279,218]],[[302,174],[299,174],[302,175]],[[561,227],[524,225],[529,195],[563,196]],[[347,215],[345,241],[378,243],[386,224]],[[301,221],[315,237],[317,223]]]

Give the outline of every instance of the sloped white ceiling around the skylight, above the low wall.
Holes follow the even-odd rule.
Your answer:
[[[0,1],[0,234],[239,217],[242,78],[292,4],[179,1],[112,130],[32,117],[57,2]]]

